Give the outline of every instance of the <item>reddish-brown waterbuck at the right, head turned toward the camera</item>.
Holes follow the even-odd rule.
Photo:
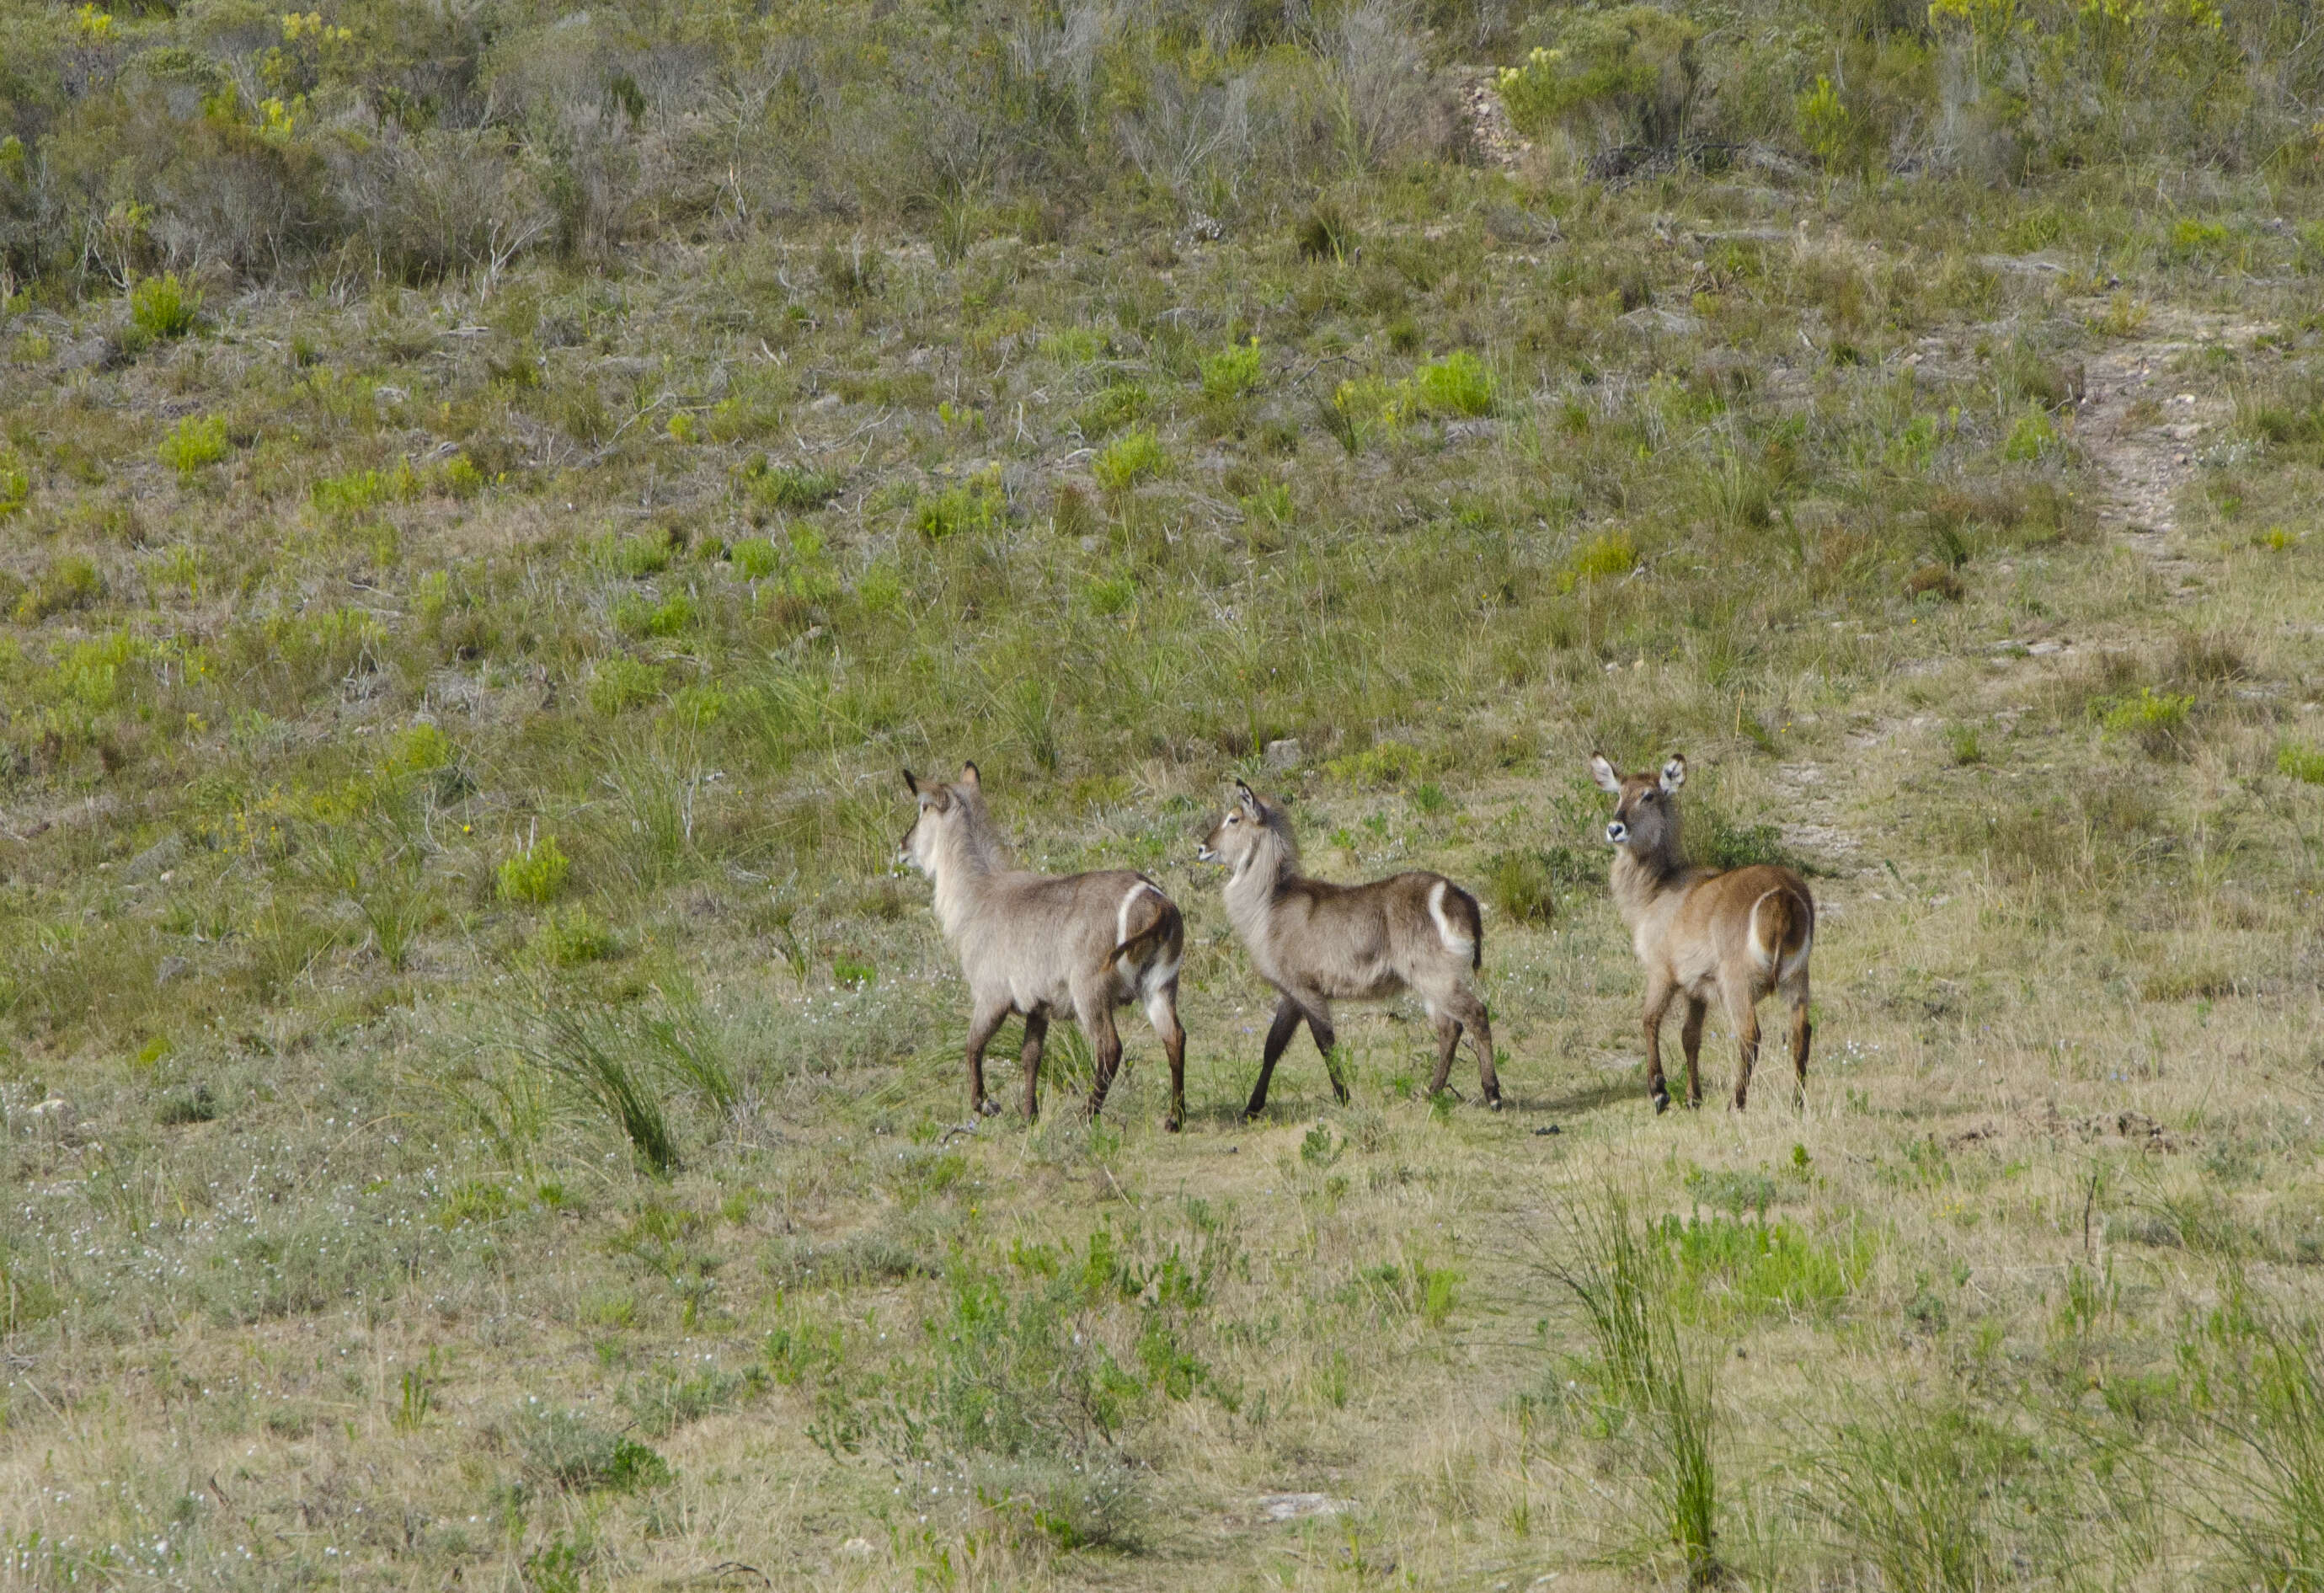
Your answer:
[[[1687,1105],[1703,1105],[1697,1053],[1703,1046],[1703,1009],[1717,995],[1736,1026],[1743,1065],[1736,1072],[1736,1112],[1750,1093],[1750,1070],[1759,1060],[1759,1000],[1783,991],[1792,1002],[1794,1105],[1808,1098],[1808,949],[1815,944],[1815,898],[1808,881],[1787,867],[1687,867],[1678,844],[1678,788],[1687,784],[1687,760],[1671,758],[1662,772],[1615,774],[1601,753],[1590,756],[1590,774],[1618,802],[1606,840],[1613,842],[1613,902],[1629,930],[1629,944],[1645,965],[1645,1088],[1655,1112],[1666,1112],[1671,1091],[1662,1081],[1662,1016],[1673,995],[1687,998],[1680,1040],[1687,1049]]]

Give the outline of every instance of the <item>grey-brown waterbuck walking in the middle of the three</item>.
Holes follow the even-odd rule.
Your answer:
[[[1334,886],[1299,874],[1299,842],[1274,802],[1234,781],[1234,807],[1195,853],[1227,865],[1227,919],[1276,986],[1276,1021],[1267,1030],[1260,1081],[1246,1116],[1267,1105],[1276,1058],[1306,1021],[1322,1051],[1332,1093],[1348,1102],[1348,1086],[1332,1065],[1332,1002],[1385,1000],[1411,991],[1436,1023],[1436,1079],[1452,1072],[1462,1030],[1476,1046],[1485,1105],[1499,1109],[1501,1081],[1492,1072],[1492,1021],[1469,977],[1485,963],[1485,919],[1476,898],[1443,874],[1394,874],[1369,886]]]

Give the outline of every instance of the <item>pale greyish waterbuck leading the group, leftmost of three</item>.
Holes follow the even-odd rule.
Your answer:
[[[1025,1121],[1041,1112],[1041,1042],[1050,1012],[1081,1023],[1097,1051],[1090,1116],[1106,1105],[1122,1037],[1113,1009],[1141,1002],[1169,1051],[1171,1133],[1185,1121],[1185,1030],[1178,1028],[1178,963],[1185,923],[1146,874],[1030,874],[1016,867],[985,812],[974,763],[953,784],[918,781],[920,809],[904,833],[902,860],[934,886],[937,923],[969,981],[969,1112],[995,1114],[985,1095],[985,1046],[1011,1014],[1025,1016]]]

